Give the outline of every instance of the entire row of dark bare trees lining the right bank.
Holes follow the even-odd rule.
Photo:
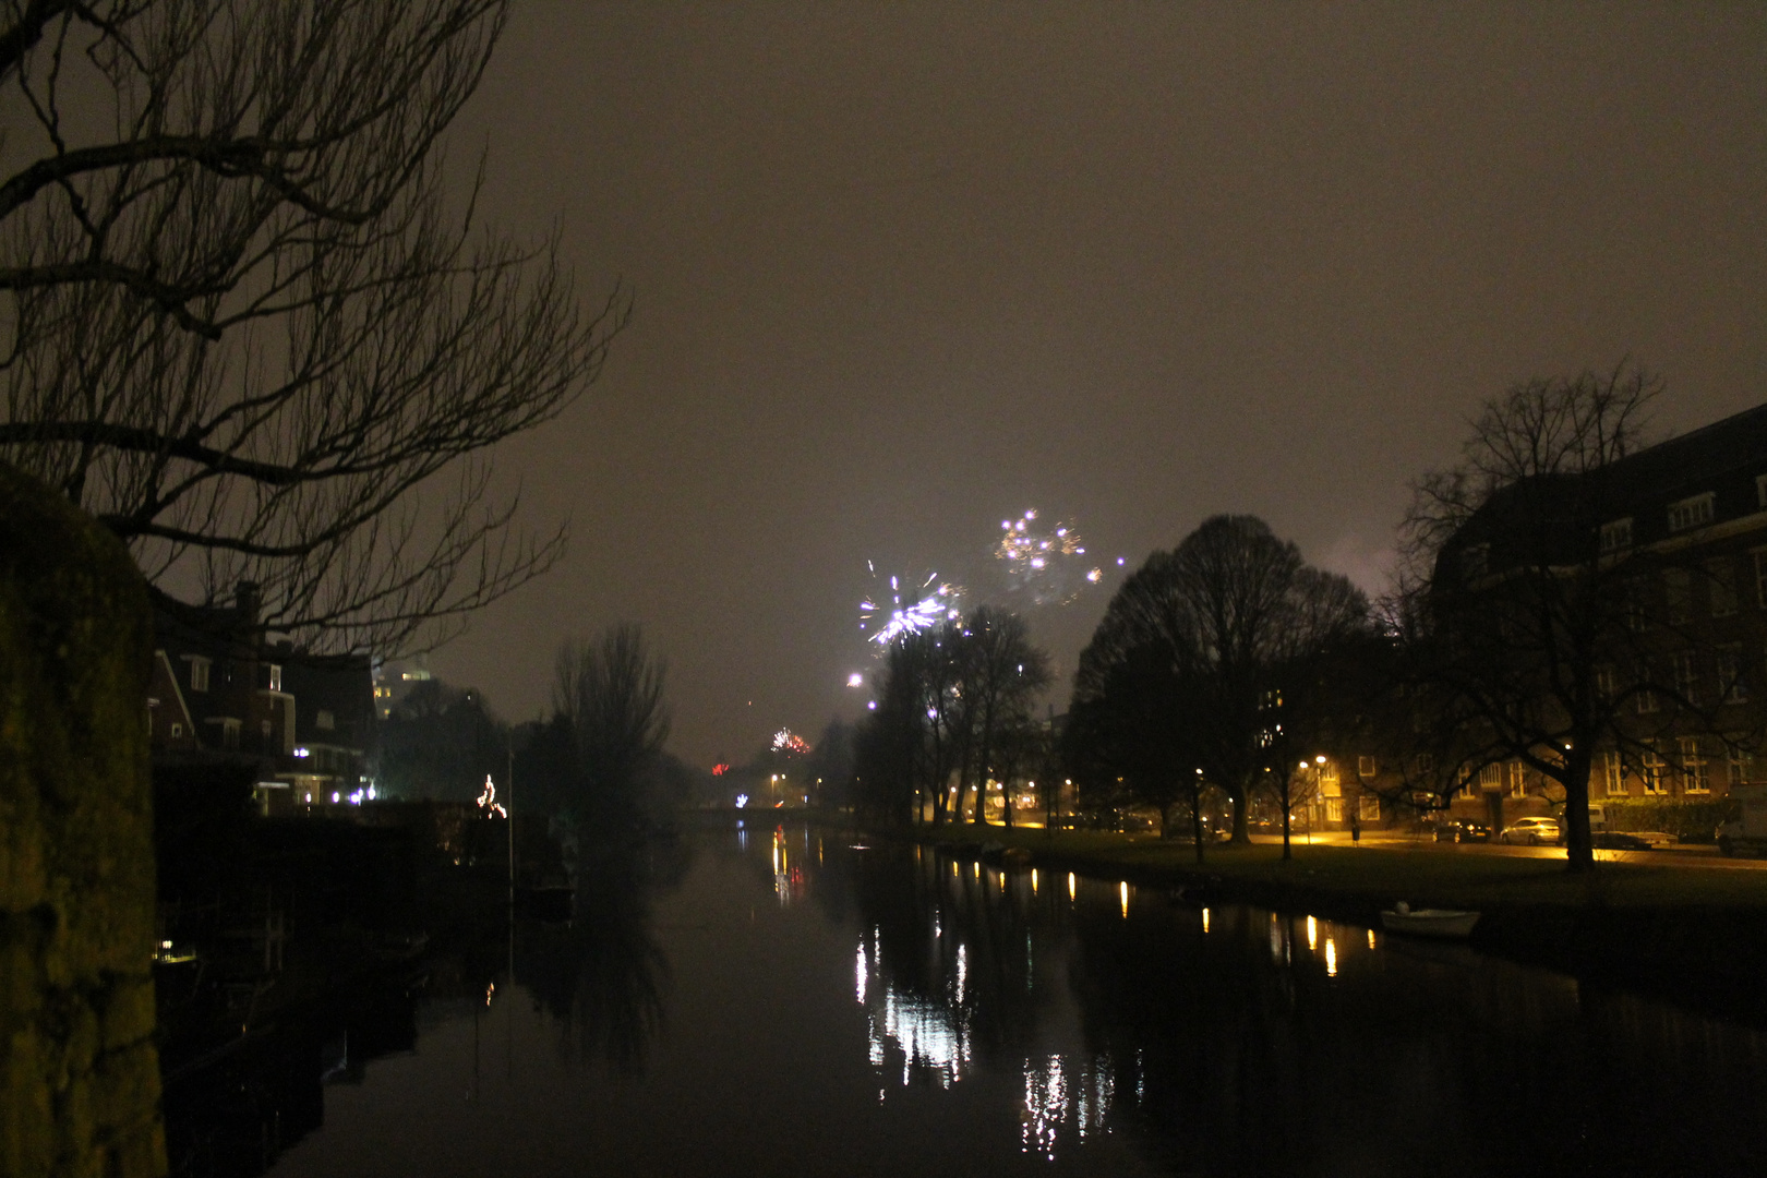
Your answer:
[[[1088,807],[1187,814],[1198,857],[1205,795],[1226,798],[1235,841],[1262,795],[1286,857],[1318,751],[1376,752],[1391,772],[1366,788],[1414,812],[1520,763],[1551,784],[1569,860],[1589,867],[1597,758],[1649,774],[1691,731],[1746,763],[1767,721],[1749,683],[1760,661],[1689,608],[1737,600],[1733,560],[1629,532],[1633,512],[1659,512],[1682,486],[1627,461],[1650,442],[1659,392],[1620,366],[1490,401],[1461,461],[1419,480],[1378,602],[1260,519],[1207,519],[1111,599],[1080,659],[1058,763],[1035,775],[1073,779]],[[1046,664],[1027,650],[1023,623],[991,609],[891,648],[859,733],[875,807],[919,814],[929,797],[935,821],[961,816],[970,789],[1035,763],[1028,719]]]

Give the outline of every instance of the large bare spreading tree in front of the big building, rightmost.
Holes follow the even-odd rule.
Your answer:
[[[1677,600],[1709,576],[1702,549],[1634,544],[1636,479],[1649,477],[1634,456],[1659,392],[1631,364],[1511,389],[1474,420],[1460,464],[1417,484],[1405,525],[1392,620],[1412,728],[1451,782],[1505,761],[1557,782],[1578,871],[1594,862],[1597,752],[1654,774],[1665,733],[1758,729],[1735,708],[1719,717],[1746,662],[1716,691],[1687,675],[1710,653]]]

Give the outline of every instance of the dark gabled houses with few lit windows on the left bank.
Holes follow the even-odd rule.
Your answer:
[[[166,766],[253,765],[263,809],[360,802],[375,736],[366,657],[313,657],[258,629],[258,590],[154,615],[148,735]]]

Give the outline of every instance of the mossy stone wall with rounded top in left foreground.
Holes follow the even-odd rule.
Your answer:
[[[0,464],[0,1174],[164,1171],[147,588]]]

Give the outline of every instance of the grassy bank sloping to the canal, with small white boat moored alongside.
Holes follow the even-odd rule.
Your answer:
[[[1380,927],[1396,901],[1483,913],[1470,945],[1603,987],[1649,993],[1686,1008],[1767,1021],[1767,874],[1599,862],[1571,874],[1558,858],[1507,858],[1460,848],[1209,846],[1108,832],[944,827],[873,832],[954,858],[1073,871],[1163,888],[1179,902],[1244,902]]]

